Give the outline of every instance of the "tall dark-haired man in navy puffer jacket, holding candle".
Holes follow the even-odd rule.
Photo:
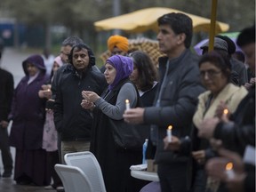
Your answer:
[[[159,59],[160,82],[155,106],[132,108],[124,120],[132,124],[152,124],[150,140],[156,145],[157,173],[162,192],[186,192],[188,158],[164,150],[168,125],[172,134],[185,137],[191,129],[197,96],[204,92],[200,84],[198,58],[189,51],[192,20],[183,13],[164,14],[158,20],[157,40],[167,57]]]

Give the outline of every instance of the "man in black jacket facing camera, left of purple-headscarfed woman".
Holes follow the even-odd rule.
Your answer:
[[[86,44],[74,45],[69,61],[70,64],[62,68],[54,104],[54,123],[60,134],[62,161],[67,153],[90,148],[92,114],[80,105],[82,91],[100,95],[107,86],[102,73],[92,69],[95,58]]]

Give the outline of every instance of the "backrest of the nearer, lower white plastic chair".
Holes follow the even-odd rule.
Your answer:
[[[60,176],[65,192],[93,192],[90,180],[79,167],[55,164],[54,168]]]

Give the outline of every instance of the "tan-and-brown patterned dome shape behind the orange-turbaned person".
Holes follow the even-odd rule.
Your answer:
[[[158,41],[145,37],[129,39],[128,52],[134,52],[138,50],[148,53],[148,56],[151,58],[156,67],[158,65],[158,58],[164,56],[164,53],[159,51]],[[105,63],[110,55],[111,53],[109,51],[103,52],[100,55],[100,59]]]

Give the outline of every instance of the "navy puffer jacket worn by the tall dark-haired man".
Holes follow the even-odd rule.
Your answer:
[[[160,82],[163,87],[160,107],[145,108],[144,122],[158,125],[158,142],[156,146],[156,163],[172,164],[187,161],[186,156],[176,156],[171,150],[164,150],[163,139],[168,125],[172,124],[172,134],[177,137],[189,135],[192,116],[195,113],[197,97],[204,88],[200,83],[198,57],[188,49],[179,58],[170,60],[167,79],[163,84],[168,58],[159,59]],[[156,93],[156,100],[159,94]],[[155,100],[155,104],[156,104]]]

